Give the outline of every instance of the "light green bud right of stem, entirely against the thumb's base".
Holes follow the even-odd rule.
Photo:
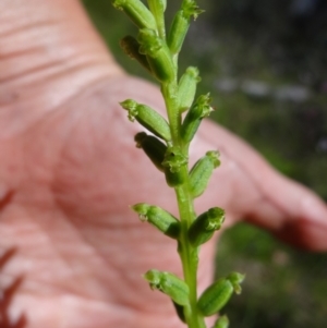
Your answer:
[[[193,198],[201,196],[206,190],[214,169],[220,165],[218,151],[207,151],[190,172],[190,192]]]

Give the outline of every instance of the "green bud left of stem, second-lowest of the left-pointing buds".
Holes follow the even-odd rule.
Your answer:
[[[180,221],[170,212],[158,206],[149,206],[145,203],[140,203],[132,206],[142,221],[148,221],[166,235],[178,239],[181,231]]]

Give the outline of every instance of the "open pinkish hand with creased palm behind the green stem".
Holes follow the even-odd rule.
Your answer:
[[[125,98],[164,110],[158,87],[114,63],[77,1],[1,0],[0,247],[16,252],[0,286],[23,278],[9,314],[13,321],[24,314],[26,328],[184,327],[141,278],[149,268],[181,268],[174,241],[129,205],[174,214],[177,206],[133,144],[140,126],[118,105]],[[327,207],[313,192],[204,122],[191,162],[209,149],[220,150],[222,165],[198,212],[221,206],[225,228],[244,219],[296,246],[327,250]],[[214,252],[214,241],[202,248],[201,290]]]

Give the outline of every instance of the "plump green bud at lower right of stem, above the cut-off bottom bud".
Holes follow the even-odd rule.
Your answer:
[[[220,311],[229,301],[233,292],[240,290],[244,275],[232,272],[226,278],[208,287],[197,302],[197,308],[204,316],[211,316]]]

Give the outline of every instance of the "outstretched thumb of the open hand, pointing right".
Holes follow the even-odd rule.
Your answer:
[[[206,124],[203,139],[215,143],[229,165],[247,178],[233,202],[247,198],[238,215],[271,231],[281,240],[311,251],[327,250],[327,206],[312,191],[271,168],[254,149],[222,127]],[[256,192],[253,191],[256,190]],[[245,194],[246,193],[246,194]]]

